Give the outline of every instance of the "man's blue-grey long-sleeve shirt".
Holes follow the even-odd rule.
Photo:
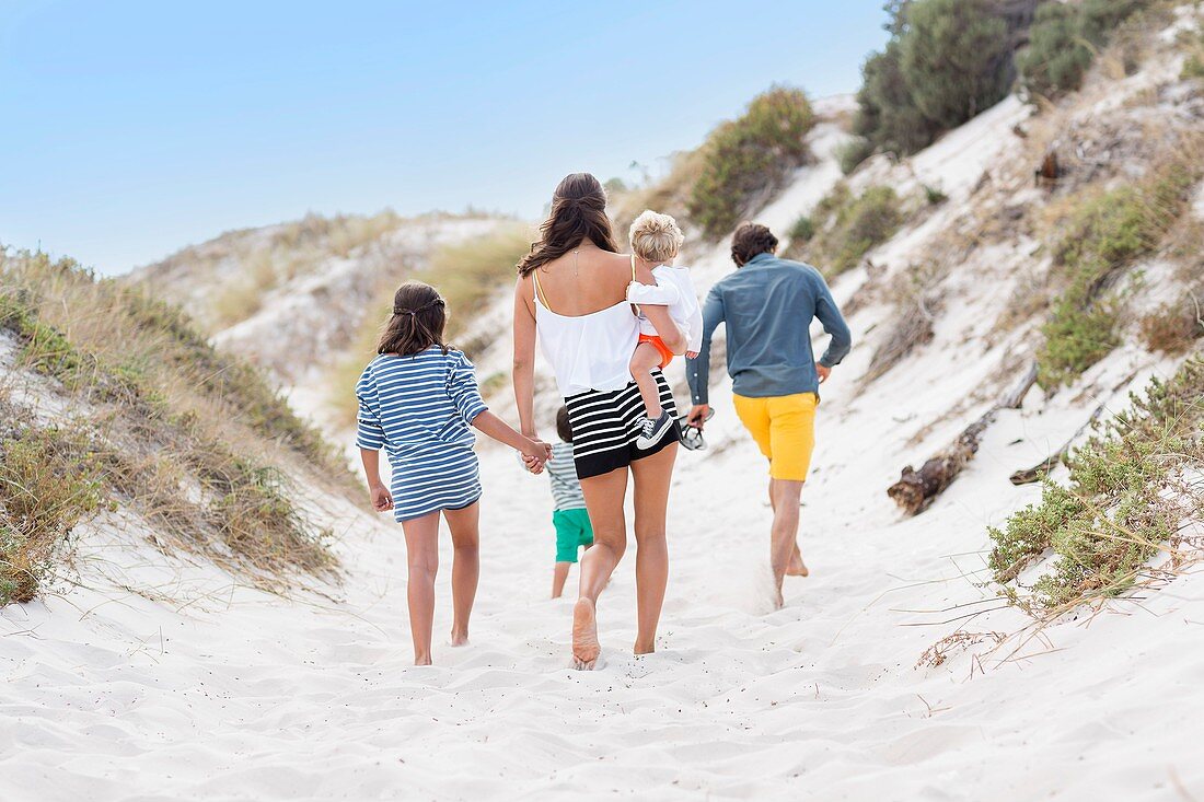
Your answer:
[[[819,393],[813,318],[831,335],[820,364],[838,365],[849,353],[852,336],[818,270],[762,253],[721,278],[702,308],[702,348],[695,359],[686,360],[694,402],[708,402],[710,340],[720,323],[727,326],[727,372],[733,393],[754,399]]]

